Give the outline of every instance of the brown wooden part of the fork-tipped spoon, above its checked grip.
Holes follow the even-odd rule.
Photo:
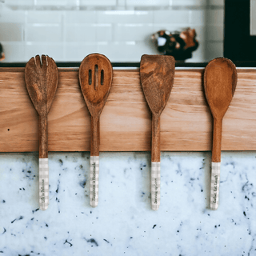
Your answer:
[[[58,86],[58,68],[54,60],[46,55],[30,58],[25,67],[25,82],[31,102],[38,112],[39,158],[48,158],[47,115]]]

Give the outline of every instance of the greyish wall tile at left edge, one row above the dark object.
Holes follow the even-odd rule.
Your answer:
[[[18,23],[1,23],[0,42],[23,41],[23,34],[23,26]]]

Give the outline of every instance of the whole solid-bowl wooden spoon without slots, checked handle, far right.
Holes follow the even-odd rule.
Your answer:
[[[234,63],[227,58],[214,58],[204,74],[206,100],[214,118],[210,181],[210,209],[218,209],[222,148],[222,119],[234,95],[238,74]]]

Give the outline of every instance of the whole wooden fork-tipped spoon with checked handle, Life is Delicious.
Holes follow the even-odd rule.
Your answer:
[[[39,206],[46,210],[49,204],[48,121],[47,114],[58,86],[58,68],[46,55],[30,58],[25,68],[26,89],[39,120]]]

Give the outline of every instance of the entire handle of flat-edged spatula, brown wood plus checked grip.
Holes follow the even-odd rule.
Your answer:
[[[151,145],[151,208],[158,210],[160,206],[160,116],[152,115]]]

